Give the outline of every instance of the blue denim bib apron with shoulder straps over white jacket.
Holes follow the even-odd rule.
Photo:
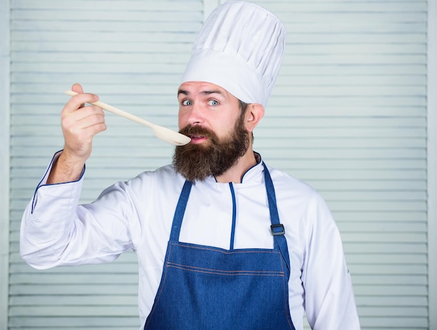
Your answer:
[[[190,195],[186,181],[173,218],[163,275],[144,329],[295,330],[288,306],[290,260],[274,186],[264,163],[273,249],[225,250],[179,242]]]

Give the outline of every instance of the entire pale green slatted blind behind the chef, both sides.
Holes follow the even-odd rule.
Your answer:
[[[138,329],[133,253],[34,271],[18,254],[20,218],[62,147],[59,114],[74,82],[177,129],[176,91],[202,2],[11,1],[10,329]],[[254,2],[288,30],[254,149],[327,200],[362,329],[428,329],[427,1]],[[149,128],[106,119],[82,202],[170,162],[172,147]]]

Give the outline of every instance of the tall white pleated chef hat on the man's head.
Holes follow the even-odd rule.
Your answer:
[[[286,29],[265,8],[227,1],[202,26],[182,82],[211,82],[244,103],[267,105],[281,67]]]

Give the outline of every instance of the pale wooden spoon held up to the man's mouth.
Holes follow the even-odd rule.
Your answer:
[[[77,93],[75,91],[65,91],[66,94],[69,96],[75,96]],[[137,123],[142,123],[142,125],[148,126],[151,128],[158,137],[158,139],[161,139],[165,142],[168,142],[170,144],[175,144],[177,146],[183,146],[185,144],[188,144],[191,141],[191,138],[183,135],[181,133],[175,132],[175,130],[170,130],[169,128],[165,128],[163,126],[155,125],[154,123],[150,123],[149,121],[145,119],[141,119],[140,117],[136,117],[133,114],[130,114],[128,112],[125,112],[123,110],[117,109],[117,107],[112,107],[112,105],[108,105],[106,103],[96,101],[91,102],[90,104],[96,105],[98,107],[103,108],[104,110],[107,110],[109,112],[112,112],[113,114],[118,114],[121,117],[124,117],[126,119],[130,119],[131,121],[135,121]]]

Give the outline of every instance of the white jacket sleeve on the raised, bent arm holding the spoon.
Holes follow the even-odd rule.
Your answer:
[[[54,160],[29,202],[20,228],[20,254],[36,269],[110,262],[133,248],[128,228],[133,207],[123,183],[91,204],[78,205],[78,181],[47,185]]]

